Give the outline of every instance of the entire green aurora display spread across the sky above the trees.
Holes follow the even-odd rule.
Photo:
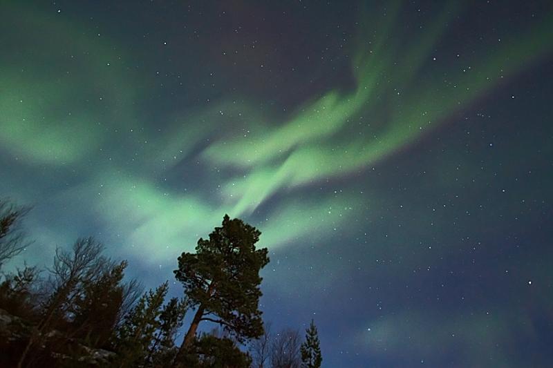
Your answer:
[[[191,249],[222,213],[247,218],[275,195],[284,200],[265,216],[265,245],[274,249],[313,229],[324,237],[325,231],[354,219],[362,206],[347,193],[304,199],[300,205],[297,194],[303,187],[367,170],[416,144],[552,49],[548,15],[541,26],[498,42],[484,56],[464,57],[470,70],[452,73],[448,65],[432,61],[431,52],[461,10],[444,6],[440,17],[413,37],[420,41],[404,45],[393,32],[397,9],[399,5],[389,11],[384,23],[366,15],[366,23],[375,29],[359,31],[351,66],[355,86],[350,90],[336,88],[312,97],[281,122],[257,112],[254,99],[229,98],[211,108],[175,113],[173,121],[152,136],[135,101],[154,89],[154,82],[140,80],[126,67],[130,52],[103,37],[84,35],[82,26],[53,23],[50,15],[13,6],[13,11],[31,15],[19,23],[4,13],[0,29],[18,37],[3,39],[2,46],[26,45],[34,51],[0,59],[1,147],[29,168],[79,173],[77,184],[57,198],[93,203],[104,226],[127,231],[123,235],[133,247],[147,250],[159,243],[162,251],[151,262],[173,260],[182,244]],[[424,80],[415,78],[433,62],[436,66],[425,72]],[[43,69],[37,70],[37,64]],[[444,70],[450,70],[447,76]],[[244,128],[214,137],[229,121]],[[198,143],[207,141],[194,157]],[[107,153],[111,147],[117,149]],[[167,172],[190,159],[238,174],[226,177],[209,197],[159,184]],[[17,186],[14,179],[12,187]],[[34,200],[30,191],[17,196]]]

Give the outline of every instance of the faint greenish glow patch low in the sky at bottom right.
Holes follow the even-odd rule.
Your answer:
[[[472,361],[474,351],[489,356],[494,365],[518,366],[520,362],[514,363],[507,358],[509,343],[514,342],[515,333],[528,338],[534,333],[533,322],[526,311],[496,311],[490,316],[481,310],[452,319],[418,310],[385,316],[363,325],[371,327],[358,331],[357,343],[364,345],[373,356],[387,356],[389,351],[409,351],[414,363],[415,357],[430,357],[432,347],[441,345],[444,349],[454,349],[458,353],[456,362],[467,367],[478,365],[478,359]],[[409,335],[405,331],[409,331]],[[473,354],[467,354],[468,351]]]

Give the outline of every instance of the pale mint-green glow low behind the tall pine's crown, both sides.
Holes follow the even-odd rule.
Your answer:
[[[95,193],[91,199],[81,193]],[[66,192],[72,202],[91,208],[105,222],[104,227],[122,233],[134,251],[148,254],[149,262],[174,260],[182,251],[191,251],[200,237],[205,237],[228,213],[225,206],[214,206],[194,195],[160,193],[149,180],[132,175],[104,173],[84,186]],[[306,231],[321,227],[319,239],[332,232],[350,216],[359,214],[360,207],[344,206],[355,199],[342,195],[301,205],[276,206],[259,226],[263,246],[298,242]],[[271,226],[271,224],[279,226]],[[285,231],[283,232],[283,229]]]

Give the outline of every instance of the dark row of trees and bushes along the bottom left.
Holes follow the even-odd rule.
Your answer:
[[[0,367],[321,367],[313,321],[303,342],[297,329],[273,332],[263,321],[268,250],[242,220],[225,215],[178,257],[183,293],[167,298],[169,281],[143,291],[125,277],[128,262],[104,255],[95,238],[56,249],[46,269],[22,262],[4,272],[37,246],[24,232],[29,211],[0,200]]]

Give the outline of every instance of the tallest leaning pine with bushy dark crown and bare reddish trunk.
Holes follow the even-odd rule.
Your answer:
[[[223,217],[223,225],[200,238],[196,253],[182,253],[174,271],[191,307],[197,307],[176,358],[176,365],[191,346],[201,321],[224,327],[238,342],[263,334],[258,309],[259,271],[269,262],[267,249],[256,249],[261,232],[242,220]]]

